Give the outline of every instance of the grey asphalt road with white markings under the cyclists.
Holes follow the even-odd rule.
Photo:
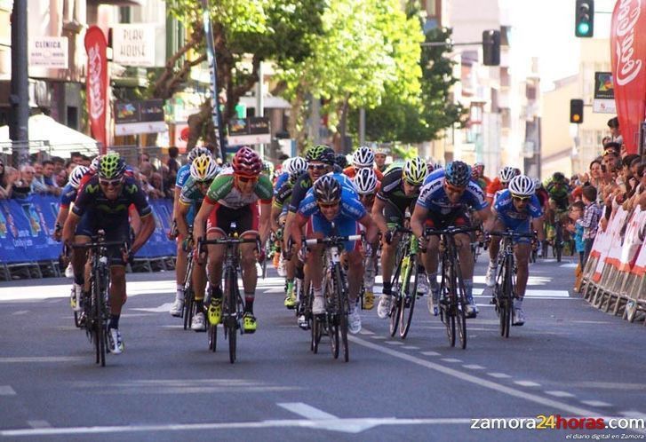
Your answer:
[[[642,324],[572,296],[573,270],[567,262],[532,264],[528,321],[508,339],[499,336],[488,294],[476,296],[481,313],[467,322],[467,350],[449,347],[425,298],[405,340],[389,337],[376,309],[363,312],[349,363],[331,358],[326,338],[319,354],[309,351],[309,332],[284,309],[273,271],[259,280],[259,330],[239,336],[234,365],[221,334],[212,353],[205,334],[184,331],[168,314],[171,272],[128,275],[125,351],[108,355],[106,367],[94,364],[74,327],[69,280],[0,283],[0,439],[643,438],[644,430],[589,430],[589,421],[526,428],[549,425],[556,414],[646,419]],[[476,293],[483,272],[481,260]]]

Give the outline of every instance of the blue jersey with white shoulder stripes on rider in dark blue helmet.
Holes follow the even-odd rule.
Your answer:
[[[419,206],[442,215],[448,215],[463,206],[475,210],[487,208],[489,203],[484,201],[483,189],[475,181],[469,181],[458,202],[451,202],[444,191],[444,176],[444,170],[435,170],[424,180],[417,201]]]

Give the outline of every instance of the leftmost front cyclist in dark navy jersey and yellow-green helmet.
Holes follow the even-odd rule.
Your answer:
[[[146,201],[146,194],[137,181],[125,177],[125,162],[119,154],[104,155],[99,162],[97,174],[79,192],[68,219],[63,227],[63,239],[87,243],[99,230],[106,234],[106,241],[130,243],[130,224],[128,207],[134,204],[141,218],[141,227],[132,241],[129,250],[119,247],[108,248],[110,264],[110,320],[108,323],[109,351],[119,354],[124,351],[124,341],[119,333],[119,318],[126,300],[125,264],[141,249],[155,231],[152,209]],[[84,217],[85,215],[85,217]],[[83,217],[83,222],[79,221]],[[78,235],[75,236],[76,228]],[[75,274],[83,274],[76,269]]]

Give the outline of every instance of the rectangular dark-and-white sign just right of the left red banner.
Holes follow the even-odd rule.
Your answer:
[[[163,132],[163,99],[115,103],[115,135]]]

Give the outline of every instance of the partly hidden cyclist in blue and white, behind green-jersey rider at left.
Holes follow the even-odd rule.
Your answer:
[[[175,179],[175,195],[173,198],[172,204],[172,221],[174,225],[177,225],[177,214],[179,213],[179,196],[181,195],[181,189],[186,184],[188,178],[191,175],[191,164],[195,161],[195,158],[198,156],[211,156],[211,151],[206,147],[194,147],[187,154],[187,163],[179,168],[177,171],[177,178]],[[187,223],[189,225],[193,224],[193,219],[195,218],[195,209],[193,206],[190,207],[187,213]],[[173,238],[171,238],[173,239]],[[187,276],[187,252],[182,247],[182,243],[186,240],[186,237],[178,235],[174,238],[177,241],[177,256],[175,257],[175,287],[176,294],[175,299],[184,299],[184,280]],[[177,304],[177,301],[175,302]],[[177,305],[174,305],[177,307]],[[171,315],[176,316],[181,314],[181,309],[179,312],[177,309],[171,308]]]

